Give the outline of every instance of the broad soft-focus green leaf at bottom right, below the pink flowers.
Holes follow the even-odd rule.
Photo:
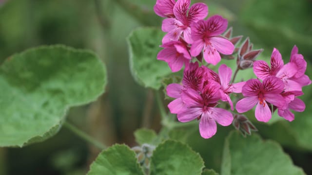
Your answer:
[[[232,132],[226,138],[221,175],[304,175],[301,168],[271,140]]]

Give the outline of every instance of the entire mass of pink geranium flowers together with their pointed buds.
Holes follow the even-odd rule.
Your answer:
[[[235,105],[237,112],[247,112],[256,105],[255,118],[260,122],[268,122],[276,109],[278,115],[288,121],[294,119],[290,109],[299,112],[305,109],[297,96],[303,94],[302,87],[310,85],[311,80],[305,75],[307,63],[298,54],[297,47],[294,46],[286,65],[274,48],[270,68],[264,61],[255,61],[263,50],[253,50],[248,37],[240,47],[235,47],[242,36],[232,37],[232,28],[225,32],[226,19],[215,15],[205,20],[208,6],[195,3],[190,7],[190,3],[190,0],[157,0],[154,6],[156,14],[165,18],[162,31],[167,33],[162,39],[164,49],[157,59],[166,61],[173,72],[185,65],[182,82],[166,87],[167,95],[175,98],[168,107],[171,113],[177,114],[178,121],[198,120],[200,135],[211,138],[216,133],[216,123],[228,126],[234,120],[230,111],[216,107],[226,102],[234,110],[231,98],[235,96],[230,96],[231,93],[244,96]],[[234,59],[231,54],[236,52],[238,70],[254,67],[258,79],[233,84],[230,83],[232,70],[226,65],[221,65],[216,73],[196,62],[196,59],[201,62],[204,58],[215,66],[221,56]],[[250,134],[256,130],[246,118],[235,116],[234,126],[241,132]]]

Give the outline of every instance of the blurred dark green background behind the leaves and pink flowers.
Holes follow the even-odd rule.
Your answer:
[[[208,4],[209,16],[220,14],[228,18],[234,35],[250,36],[256,49],[264,49],[262,57],[270,57],[275,47],[282,53],[284,62],[288,62],[293,45],[297,45],[299,53],[310,62],[307,71],[311,77],[312,0],[192,2],[199,1]],[[155,92],[138,86],[131,76],[126,37],[138,26],[160,29],[162,18],[153,12],[155,2],[0,0],[0,62],[39,45],[65,44],[93,50],[107,65],[107,91],[93,104],[72,108],[67,119],[106,145],[135,146],[133,131],[140,127],[159,131],[161,126]],[[311,88],[304,88],[304,92],[307,109],[302,114],[296,113],[299,122],[255,125],[262,137],[280,142],[294,163],[312,174]],[[193,137],[183,141],[200,152],[206,167],[219,172],[223,140],[233,127],[218,127],[217,135],[211,140],[201,139],[197,127],[186,129],[178,132],[183,137]],[[62,128],[42,143],[0,148],[0,175],[83,175],[99,152]]]

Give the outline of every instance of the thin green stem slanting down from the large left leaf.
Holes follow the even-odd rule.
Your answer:
[[[95,147],[99,148],[100,150],[106,149],[106,146],[103,145],[101,142],[99,142],[98,140],[95,140],[94,138],[89,136],[87,133],[81,131],[78,127],[72,125],[71,123],[68,123],[65,121],[63,126],[66,127],[67,129],[71,130],[73,133],[75,133],[81,139],[93,144]]]

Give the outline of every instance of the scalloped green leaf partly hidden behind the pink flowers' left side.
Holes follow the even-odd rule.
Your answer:
[[[171,73],[168,64],[157,60],[164,33],[156,28],[138,28],[128,37],[130,70],[138,84],[159,89],[161,80]]]

